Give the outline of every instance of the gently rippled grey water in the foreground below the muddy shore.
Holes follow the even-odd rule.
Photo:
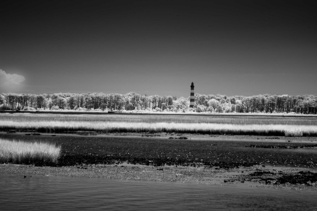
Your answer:
[[[1,210],[317,210],[315,191],[0,173]]]

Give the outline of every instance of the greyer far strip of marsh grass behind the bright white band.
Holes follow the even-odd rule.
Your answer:
[[[218,115],[68,115],[68,114],[0,114],[1,121],[38,122],[168,122],[168,123],[217,123],[217,124],[283,124],[317,125],[314,117],[272,117],[272,116],[218,116]]]

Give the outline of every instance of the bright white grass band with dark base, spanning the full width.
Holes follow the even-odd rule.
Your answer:
[[[178,122],[100,122],[100,121],[2,121],[0,129],[35,130],[42,132],[102,131],[102,132],[178,132],[232,135],[317,136],[317,126],[277,124],[217,124]]]

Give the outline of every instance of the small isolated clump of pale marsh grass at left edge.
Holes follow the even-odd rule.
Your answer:
[[[46,142],[22,142],[0,139],[0,163],[57,163],[61,146]]]

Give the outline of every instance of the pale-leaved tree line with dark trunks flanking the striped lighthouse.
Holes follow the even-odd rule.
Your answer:
[[[190,97],[147,96],[134,92],[126,94],[56,93],[0,95],[0,110],[150,110],[176,112],[218,113],[294,113],[316,114],[317,95],[256,95],[226,96],[195,94],[194,108],[189,108]]]

